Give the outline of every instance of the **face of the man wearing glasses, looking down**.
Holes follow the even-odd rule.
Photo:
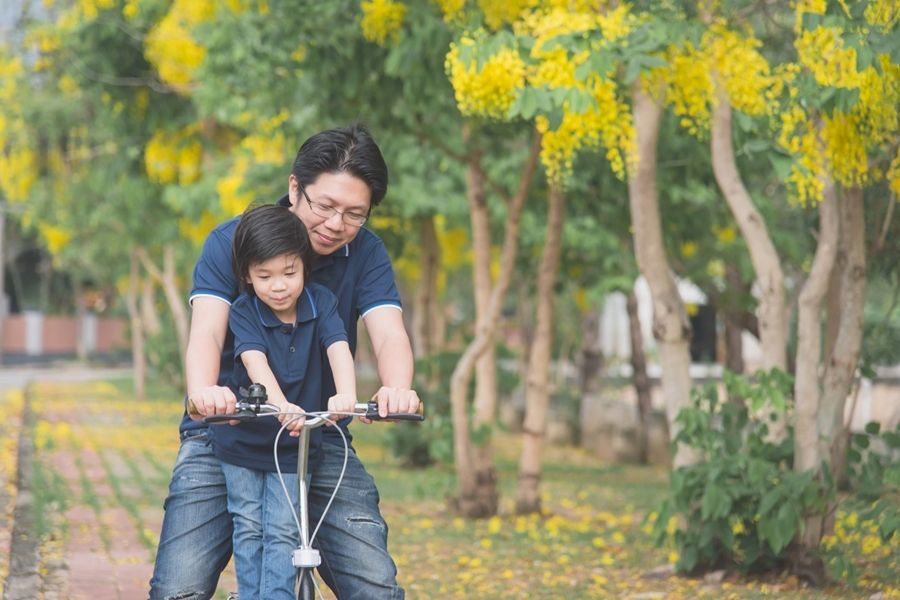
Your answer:
[[[319,175],[306,186],[306,195],[293,175],[288,178],[288,186],[291,212],[306,225],[313,250],[321,255],[349,244],[362,226],[360,218],[368,216],[372,204],[369,186],[348,173]]]

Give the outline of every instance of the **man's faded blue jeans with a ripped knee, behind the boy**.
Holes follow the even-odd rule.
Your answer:
[[[319,522],[341,474],[343,446],[322,444],[309,489],[310,526]],[[341,488],[314,545],[319,574],[340,600],[399,599],[397,567],[387,551],[388,528],[378,490],[351,449]],[[205,432],[187,431],[175,461],[156,554],[152,600],[206,600],[231,556],[225,476]]]

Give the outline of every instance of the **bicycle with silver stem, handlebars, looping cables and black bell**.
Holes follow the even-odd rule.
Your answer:
[[[318,526],[316,530],[312,532],[312,534],[310,534],[309,531],[309,507],[306,485],[309,459],[309,432],[328,423],[331,423],[332,425],[337,427],[336,421],[331,418],[333,416],[365,417],[372,421],[424,421],[425,407],[420,403],[418,410],[415,413],[391,413],[386,417],[381,417],[378,414],[378,404],[374,401],[357,403],[354,406],[352,412],[317,411],[302,413],[283,413],[277,406],[268,404],[266,402],[268,397],[266,395],[266,388],[262,384],[251,384],[250,387],[246,390],[242,388],[239,395],[240,400],[238,400],[235,405],[234,413],[229,415],[214,415],[204,417],[203,422],[213,425],[231,421],[245,422],[262,417],[277,417],[279,415],[285,414],[294,415],[293,419],[289,419],[282,424],[281,428],[278,430],[278,434],[276,434],[275,436],[275,440],[273,441],[275,468],[278,473],[279,479],[281,479],[282,489],[284,489],[285,495],[288,497],[288,499],[290,499],[290,494],[288,493],[287,486],[284,483],[284,479],[281,478],[281,469],[278,466],[278,440],[281,438],[281,434],[285,431],[286,427],[291,422],[300,418],[305,418],[303,427],[300,430],[297,448],[297,508],[299,508],[299,512],[294,510],[295,507],[293,506],[293,503],[289,502],[291,504],[291,511],[293,512],[294,522],[297,525],[299,542],[297,548],[291,555],[291,564],[293,564],[293,566],[297,569],[297,575],[294,582],[295,596],[298,600],[315,600],[317,593],[319,594],[319,596],[322,596],[322,594],[318,588],[315,577],[313,576],[313,571],[321,564],[322,557],[319,554],[319,551],[312,546],[312,543],[315,541]],[[191,414],[193,416],[198,416],[200,414],[190,400],[187,400],[187,410],[188,414]],[[343,430],[340,427],[337,427],[337,431],[340,433],[341,437],[344,440],[344,468],[346,468],[350,445],[347,443],[347,438],[344,435]],[[340,488],[343,478],[344,471],[342,469],[341,474],[338,477],[337,484],[335,485],[334,491],[331,494],[331,498],[329,498],[328,503],[325,505],[325,508],[322,511],[323,517],[331,507],[331,502],[332,500],[334,500],[334,497],[337,494],[337,490]],[[319,522],[321,523],[321,519]]]

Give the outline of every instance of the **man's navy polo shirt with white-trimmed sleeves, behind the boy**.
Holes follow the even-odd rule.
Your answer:
[[[279,204],[287,204],[283,196]],[[213,229],[207,236],[194,266],[191,300],[198,296],[212,296],[232,304],[240,290],[231,266],[231,241],[240,217],[235,217]],[[394,280],[394,270],[384,243],[377,235],[361,228],[353,240],[327,256],[319,256],[309,277],[310,283],[318,283],[337,297],[338,315],[347,329],[347,341],[356,354],[357,321],[367,312],[381,306],[400,308],[400,294]],[[327,360],[327,359],[326,359]],[[227,385],[234,367],[234,337],[229,330],[222,348],[219,368],[219,385]],[[323,374],[322,395],[334,394],[334,380],[329,367]],[[342,422],[345,432],[349,419]],[[205,427],[185,415],[181,431]],[[324,439],[342,444],[340,434],[325,428]],[[348,433],[349,436],[349,433]]]

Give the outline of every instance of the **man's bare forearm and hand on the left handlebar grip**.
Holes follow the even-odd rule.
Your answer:
[[[231,307],[224,300],[210,296],[195,297],[191,307],[185,371],[188,399],[200,412],[193,418],[200,420],[206,415],[234,412],[234,393],[217,385]]]

